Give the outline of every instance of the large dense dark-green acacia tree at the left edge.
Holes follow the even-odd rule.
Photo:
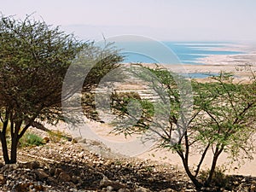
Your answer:
[[[12,164],[17,160],[19,139],[29,127],[42,126],[40,121],[55,124],[62,119],[61,88],[67,69],[81,51],[94,57],[95,46],[44,21],[29,16],[15,20],[3,15],[0,44],[0,139],[3,159],[6,164]],[[107,73],[120,60],[120,56],[113,54],[102,61],[106,65],[98,65],[98,68]],[[91,79],[84,84],[97,82]]]

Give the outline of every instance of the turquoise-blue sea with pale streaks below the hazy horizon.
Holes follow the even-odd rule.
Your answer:
[[[203,58],[211,55],[239,55],[242,51],[234,50],[236,43],[233,42],[159,42],[158,44],[142,42],[119,42],[118,49],[123,50],[125,63],[162,63],[155,57],[165,57],[165,64],[190,64],[204,65]],[[157,48],[158,47],[158,48]],[[154,49],[155,48],[155,49]],[[127,51],[125,51],[127,49]],[[133,51],[134,49],[134,51]],[[152,49],[152,50],[151,50]],[[163,52],[169,50],[168,56]],[[138,50],[146,50],[146,53],[140,53]],[[171,56],[170,56],[171,55]],[[160,56],[160,57],[159,57]],[[168,60],[168,58],[170,58]],[[175,58],[174,58],[175,57]],[[169,61],[169,62],[168,62]],[[208,76],[218,75],[217,73],[191,73],[190,78],[206,78]]]

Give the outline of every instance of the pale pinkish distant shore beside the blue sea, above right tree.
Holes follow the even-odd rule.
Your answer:
[[[158,64],[162,67],[184,74],[218,74],[220,72],[232,73],[238,80],[248,80],[252,75],[248,69],[256,71],[256,49],[246,45],[236,45],[234,48],[214,48],[214,50],[234,50],[244,51],[243,54],[237,55],[207,55],[206,57],[198,58],[195,64]],[[142,63],[143,66],[154,67],[152,63]],[[192,75],[193,76],[193,75]],[[207,79],[199,78],[201,81]]]

